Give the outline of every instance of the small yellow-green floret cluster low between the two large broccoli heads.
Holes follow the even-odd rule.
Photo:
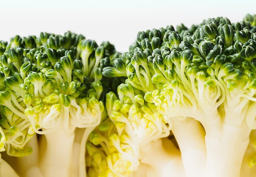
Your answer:
[[[140,151],[149,142],[169,135],[170,121],[139,93],[122,83],[118,97],[113,92],[106,94],[108,116],[90,134],[87,144],[88,176],[129,176],[140,164]],[[100,158],[94,158],[96,153]]]

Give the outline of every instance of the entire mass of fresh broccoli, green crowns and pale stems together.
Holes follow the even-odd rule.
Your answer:
[[[3,177],[254,177],[255,118],[256,15],[0,41]]]

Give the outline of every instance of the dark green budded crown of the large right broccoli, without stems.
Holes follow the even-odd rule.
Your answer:
[[[165,124],[191,117],[203,125],[207,137],[217,140],[225,125],[249,132],[256,128],[255,22],[256,17],[247,14],[236,23],[217,17],[191,28],[181,24],[176,30],[170,25],[140,31],[129,52],[103,68],[102,74],[123,78],[123,84],[143,98],[141,103],[156,106]],[[129,108],[135,108],[135,102]],[[242,139],[248,138],[245,134]],[[252,157],[250,164],[254,161]]]

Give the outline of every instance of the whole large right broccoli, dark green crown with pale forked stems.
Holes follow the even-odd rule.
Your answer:
[[[126,76],[170,122],[188,177],[240,176],[255,129],[254,22],[248,14],[236,23],[218,17],[141,31],[128,57],[103,69]],[[247,158],[252,166],[255,157]]]

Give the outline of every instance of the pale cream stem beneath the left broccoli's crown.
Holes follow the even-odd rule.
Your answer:
[[[66,134],[62,128],[44,135],[46,144],[41,152],[40,169],[45,177],[71,177],[75,133]]]

